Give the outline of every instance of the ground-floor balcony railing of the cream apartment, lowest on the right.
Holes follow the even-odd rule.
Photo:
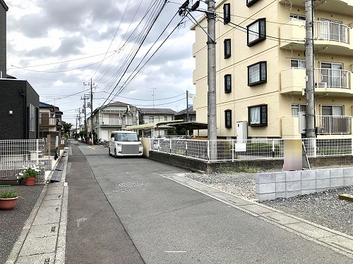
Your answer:
[[[318,134],[351,134],[352,117],[344,115],[316,115]]]

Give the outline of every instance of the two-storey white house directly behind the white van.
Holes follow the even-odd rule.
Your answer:
[[[128,103],[116,101],[93,111],[93,132],[97,139],[109,140],[114,130],[138,125],[138,109]]]

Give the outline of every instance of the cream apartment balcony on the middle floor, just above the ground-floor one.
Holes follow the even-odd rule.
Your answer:
[[[316,68],[314,85],[316,95],[353,96],[352,73],[348,70]],[[304,94],[306,72],[304,68],[288,68],[281,72],[281,94]]]

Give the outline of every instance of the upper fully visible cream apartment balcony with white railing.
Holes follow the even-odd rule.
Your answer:
[[[347,25],[331,21],[315,21],[314,50],[325,54],[351,55],[353,51],[353,30]],[[280,48],[305,49],[305,21],[288,20],[280,27]]]

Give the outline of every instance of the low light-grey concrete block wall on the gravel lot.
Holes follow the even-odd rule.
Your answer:
[[[353,168],[258,173],[256,199],[273,200],[353,185]]]

